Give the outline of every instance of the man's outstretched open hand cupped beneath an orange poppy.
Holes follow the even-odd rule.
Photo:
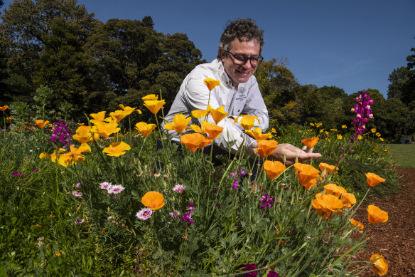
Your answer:
[[[270,157],[272,160],[279,160],[280,162],[283,162],[285,154],[287,166],[293,164],[296,161],[296,157],[298,162],[301,163],[321,157],[320,153],[313,153],[313,148],[308,148],[308,150],[306,150],[306,148],[307,147],[305,146],[301,150],[300,148],[290,145],[289,143],[283,143],[276,147],[276,150],[272,152]]]

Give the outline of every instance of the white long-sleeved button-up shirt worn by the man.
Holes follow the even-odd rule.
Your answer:
[[[213,88],[210,98],[209,89],[203,81],[206,78],[220,80],[220,85]],[[192,110],[206,110],[208,103],[214,109],[224,106],[225,113],[229,113],[228,117],[257,115],[260,123],[255,120],[254,127],[261,127],[263,132],[268,128],[268,110],[266,110],[264,100],[259,91],[257,79],[252,75],[247,83],[239,83],[236,87],[232,87],[232,80],[225,73],[222,61],[217,59],[212,61],[212,63],[196,66],[186,76],[165,119],[168,122],[173,122],[174,116],[179,113],[186,117],[191,117],[190,112]],[[202,119],[192,118],[190,124],[200,125],[201,122]],[[208,122],[215,123],[210,115],[208,116]],[[249,156],[256,155],[254,149],[258,147],[257,141],[246,135],[239,123],[233,125],[227,118],[224,118],[217,125],[223,127],[223,131],[219,137],[215,138],[215,145],[218,145],[223,150],[230,148],[231,152],[235,154],[242,143],[245,142],[245,147],[247,147],[245,150],[246,154]],[[174,141],[180,142],[180,137],[175,130],[164,131],[168,132]],[[190,130],[190,132],[193,131]],[[235,144],[230,147],[229,142],[234,140]]]

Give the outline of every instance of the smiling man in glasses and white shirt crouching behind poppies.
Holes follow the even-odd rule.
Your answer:
[[[174,116],[179,113],[190,117],[192,110],[206,110],[208,105],[214,109],[224,106],[229,115],[217,124],[223,127],[223,131],[215,139],[215,145],[219,147],[216,154],[225,154],[228,150],[235,154],[244,143],[247,155],[257,155],[254,152],[257,141],[244,133],[239,122],[235,123],[235,118],[239,115],[255,115],[258,120],[254,127],[261,127],[263,131],[268,128],[268,111],[254,77],[255,70],[262,62],[263,45],[263,30],[252,19],[230,21],[220,38],[217,59],[196,66],[186,76],[166,120],[173,122]],[[203,82],[206,78],[220,80],[220,85],[210,92]],[[192,118],[190,124],[200,125],[201,121]],[[211,116],[208,116],[208,122],[213,123]],[[174,141],[180,142],[176,131],[170,131],[169,134]],[[293,145],[281,144],[272,153],[271,159],[282,161],[284,155],[287,165],[292,164],[296,157],[299,162],[321,157],[318,153],[312,153],[312,149],[306,152]]]

